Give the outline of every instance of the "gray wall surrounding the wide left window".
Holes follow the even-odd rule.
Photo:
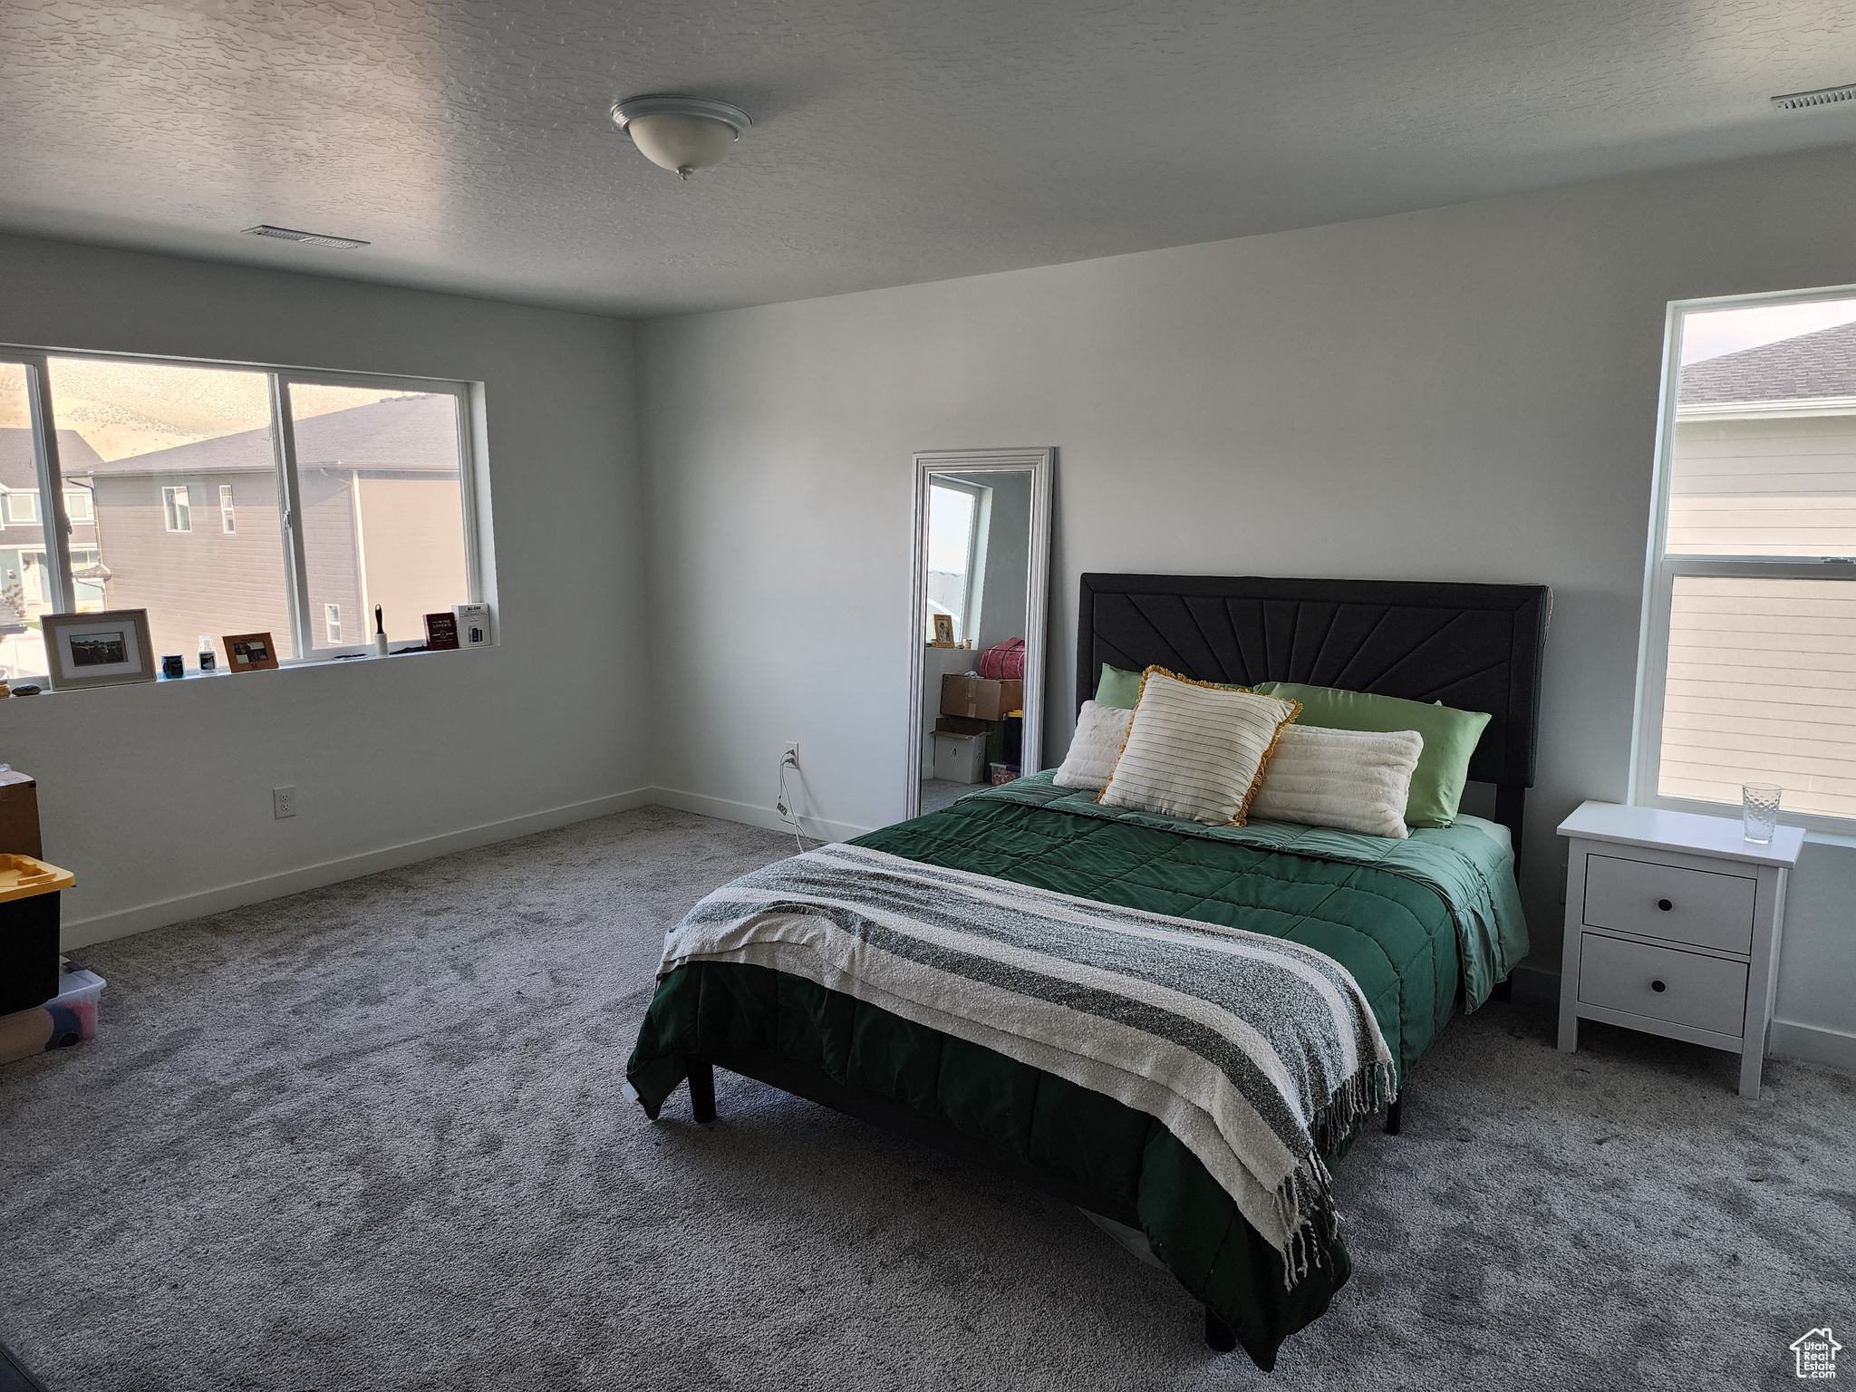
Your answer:
[[[0,238],[0,342],[481,380],[488,406],[501,646],[0,703],[78,874],[71,943],[644,800],[631,325]],[[282,783],[301,811],[273,820]]]

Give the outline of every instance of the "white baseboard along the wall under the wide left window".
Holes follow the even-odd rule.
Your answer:
[[[282,870],[278,874],[258,876],[256,880],[239,880],[238,883],[219,885],[217,889],[200,889],[193,895],[176,895],[174,898],[161,898],[152,904],[137,904],[130,909],[100,913],[95,919],[78,919],[76,922],[67,922],[63,926],[59,945],[69,952],[71,948],[89,947],[91,943],[108,943],[111,937],[128,937],[132,934],[148,932],[150,928],[165,928],[171,922],[186,922],[187,919],[200,919],[208,913],[225,913],[226,909],[238,909],[245,904],[262,904],[267,898],[297,895],[304,889],[321,889],[323,885],[340,883],[342,880],[358,880],[364,874],[397,870],[401,865],[429,861],[434,856],[449,856],[455,850],[471,850],[475,846],[488,846],[494,841],[514,841],[516,837],[533,835],[535,831],[549,831],[557,826],[568,826],[570,822],[611,817],[612,813],[631,811],[633,807],[646,807],[659,802],[655,793],[657,789],[638,787],[629,793],[614,793],[605,798],[590,798],[588,802],[574,802],[564,807],[549,807],[523,817],[507,817],[499,822],[468,826],[462,831],[445,831],[436,837],[405,841],[397,846],[367,850],[360,856],[343,856],[317,865],[304,865],[297,870]]]

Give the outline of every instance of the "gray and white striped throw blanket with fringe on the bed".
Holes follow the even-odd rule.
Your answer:
[[[659,976],[744,961],[1106,1093],[1160,1119],[1308,1270],[1338,1223],[1321,1153],[1392,1101],[1353,976],[1277,937],[824,846],[722,885]]]

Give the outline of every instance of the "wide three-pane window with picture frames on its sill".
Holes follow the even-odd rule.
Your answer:
[[[334,657],[375,607],[423,642],[483,598],[473,436],[464,382],[0,347],[0,676],[43,672],[37,618],[71,609],[147,609],[158,653]]]

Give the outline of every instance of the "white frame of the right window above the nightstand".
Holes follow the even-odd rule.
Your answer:
[[[1663,702],[1669,683],[1669,622],[1674,607],[1676,579],[1811,579],[1856,585],[1852,557],[1772,557],[1772,555],[1669,555],[1669,503],[1674,483],[1676,412],[1682,392],[1682,321],[1691,312],[1750,310],[1769,304],[1810,304],[1824,299],[1856,299],[1856,286],[1787,290],[1780,293],[1722,295],[1708,299],[1678,299],[1669,303],[1663,321],[1663,386],[1657,395],[1656,464],[1650,483],[1650,536],[1643,572],[1643,611],[1637,629],[1637,689],[1631,718],[1631,765],[1626,802],[1633,807],[1663,807],[1667,811],[1700,813],[1704,817],[1732,817],[1739,809],[1732,802],[1700,802],[1696,798],[1669,798],[1657,787],[1663,770]],[[1800,813],[1782,807],[1782,826],[1800,826],[1806,831],[1856,835],[1856,818]]]

